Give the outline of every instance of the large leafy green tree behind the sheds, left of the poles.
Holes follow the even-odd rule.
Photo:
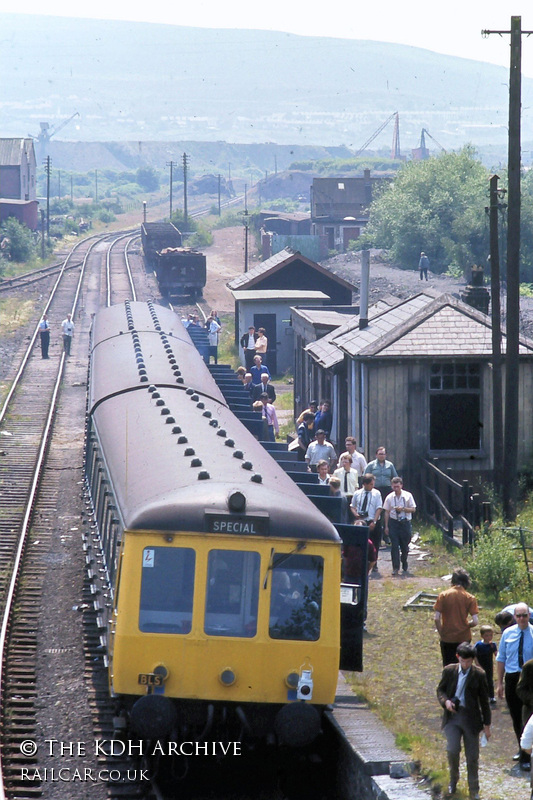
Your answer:
[[[406,269],[417,268],[422,250],[437,272],[484,264],[489,173],[474,156],[465,147],[405,164],[372,203],[359,247],[385,248]]]

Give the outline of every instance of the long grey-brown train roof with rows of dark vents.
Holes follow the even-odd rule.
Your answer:
[[[229,410],[173,312],[127,302],[96,315],[88,407],[128,529],[340,541]]]

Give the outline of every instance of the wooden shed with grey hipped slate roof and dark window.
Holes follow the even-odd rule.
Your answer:
[[[385,445],[411,481],[420,457],[438,457],[457,478],[490,478],[502,458],[493,448],[490,317],[431,290],[389,303],[370,310],[366,328],[353,318],[305,347],[315,369],[330,372],[336,439],[355,435],[369,458]],[[521,461],[532,454],[532,411],[533,341],[522,338]]]

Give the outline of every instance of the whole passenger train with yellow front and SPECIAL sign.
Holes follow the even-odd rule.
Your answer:
[[[132,729],[310,743],[337,682],[340,539],[228,409],[172,312],[97,314],[86,473],[110,690]]]

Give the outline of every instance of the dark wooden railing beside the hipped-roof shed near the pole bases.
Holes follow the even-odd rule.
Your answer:
[[[438,459],[421,459],[422,511],[440,528],[445,544],[472,546],[476,531],[491,521],[490,503],[482,502],[467,480],[461,483],[438,467]]]

